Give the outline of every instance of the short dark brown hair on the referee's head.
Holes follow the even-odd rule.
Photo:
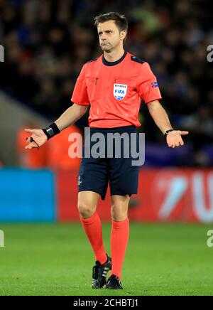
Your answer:
[[[98,26],[99,23],[104,23],[104,21],[115,21],[116,26],[119,31],[128,30],[128,21],[125,15],[121,15],[117,12],[110,12],[107,14],[100,14],[94,18],[94,26]]]

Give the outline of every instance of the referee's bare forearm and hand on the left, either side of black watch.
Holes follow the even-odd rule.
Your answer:
[[[76,105],[75,103],[72,107],[69,107],[56,121],[60,132],[75,124],[78,119],[80,119],[87,111],[87,107],[85,105]],[[31,134],[31,137],[27,139],[27,145],[25,149],[34,149],[35,147],[42,146],[48,140],[47,135],[43,132],[42,129],[25,129],[26,132]],[[33,140],[32,140],[32,139]]]

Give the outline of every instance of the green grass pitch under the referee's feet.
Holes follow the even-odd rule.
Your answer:
[[[0,225],[0,295],[212,295],[212,226],[131,223],[122,291],[90,288],[94,257],[78,223]],[[110,254],[111,224],[103,225]]]

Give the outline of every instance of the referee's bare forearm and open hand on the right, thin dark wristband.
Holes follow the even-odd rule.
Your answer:
[[[163,132],[163,134],[165,134],[167,130],[173,129],[173,127],[170,124],[168,114],[165,112],[165,109],[163,109],[162,105],[160,105],[160,102],[158,100],[149,102],[148,110],[155,124],[158,126],[161,132]],[[184,142],[182,141],[181,136],[186,135],[188,133],[189,132],[182,132],[180,130],[173,130],[169,132],[166,137],[168,146],[174,148],[175,146],[183,145]]]

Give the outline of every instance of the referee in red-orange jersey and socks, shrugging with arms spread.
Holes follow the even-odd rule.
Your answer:
[[[48,139],[77,122],[89,111],[91,134],[136,133],[141,100],[155,124],[165,135],[168,146],[182,146],[182,135],[174,130],[161,99],[158,82],[145,61],[124,50],[128,30],[126,17],[111,12],[94,18],[103,55],[85,63],[77,78],[71,101],[75,102],[59,119],[45,129],[26,129],[31,134],[26,149],[43,145]],[[91,144],[92,147],[92,144]],[[129,240],[128,205],[131,194],[137,193],[138,166],[124,153],[120,158],[82,158],[78,176],[78,210],[80,220],[95,256],[92,288],[122,289],[121,269]],[[111,257],[104,250],[102,223],[97,214],[99,196],[104,199],[107,186],[111,193]],[[107,279],[107,272],[111,274]]]

